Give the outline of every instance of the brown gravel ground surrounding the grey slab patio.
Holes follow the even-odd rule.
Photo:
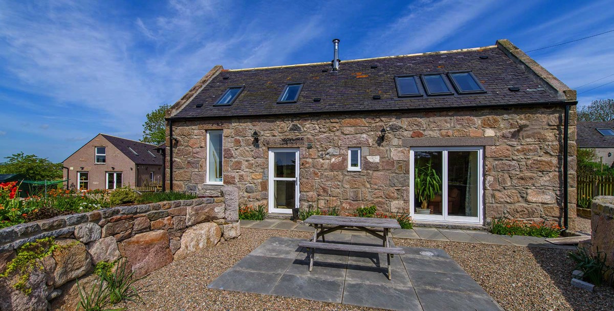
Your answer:
[[[146,304],[128,310],[375,310],[305,299],[209,290],[206,286],[268,237],[306,239],[309,232],[241,229],[242,236],[153,272],[136,285]],[[614,289],[588,293],[569,285],[567,251],[503,245],[395,239],[443,248],[506,310],[614,310]]]

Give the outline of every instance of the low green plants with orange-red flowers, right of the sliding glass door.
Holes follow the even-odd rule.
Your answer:
[[[488,229],[492,234],[507,236],[558,237],[561,234],[559,225],[547,223],[545,220],[529,223],[507,218],[492,218]]]

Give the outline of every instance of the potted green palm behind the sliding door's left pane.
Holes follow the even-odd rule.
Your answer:
[[[438,193],[441,193],[441,177],[433,169],[433,164],[430,160],[424,166],[416,167],[414,191],[416,198],[421,202],[420,207],[416,207],[416,213],[429,214],[429,201],[435,198]]]

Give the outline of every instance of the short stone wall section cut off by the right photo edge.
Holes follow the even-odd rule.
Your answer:
[[[596,196],[593,198],[593,216],[591,217],[591,253],[596,255],[597,248],[607,254],[605,264],[614,269],[614,196]],[[608,275],[610,284],[614,273]]]

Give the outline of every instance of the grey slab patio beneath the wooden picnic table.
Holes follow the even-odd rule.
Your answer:
[[[254,228],[254,227],[252,227]],[[381,245],[362,235],[327,234],[335,243]],[[316,250],[313,271],[301,239],[271,237],[208,288],[390,310],[503,310],[439,248],[402,247],[405,255]]]

